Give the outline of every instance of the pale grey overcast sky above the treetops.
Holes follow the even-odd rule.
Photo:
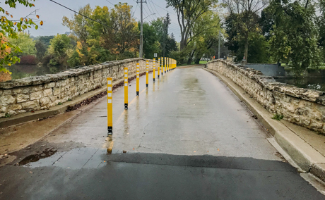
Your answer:
[[[85,6],[86,4],[90,4],[92,8],[95,6],[108,6],[112,8],[112,4],[118,4],[119,2],[133,6],[132,12],[134,12],[134,18],[136,20],[140,20],[140,4],[136,3],[136,0],[93,0],[93,1],[85,1],[85,0],[54,0],[57,1],[59,4],[62,4],[66,7],[71,8],[74,11],[78,11],[79,8]],[[138,0],[140,1],[140,0]],[[144,1],[144,0],[143,0]],[[72,11],[67,10],[64,7],[61,7],[57,4],[54,4],[52,1],[49,0],[36,0],[35,7],[33,8],[26,8],[25,6],[18,5],[16,9],[9,9],[3,1],[0,2],[1,7],[3,7],[6,11],[13,15],[14,19],[19,19],[20,17],[25,17],[35,9],[39,9],[37,14],[40,15],[40,20],[43,20],[44,25],[39,26],[38,30],[30,29],[30,35],[32,36],[39,36],[39,35],[57,35],[62,34],[64,32],[69,31],[68,27],[64,27],[62,25],[62,18],[63,16],[67,16],[71,18],[73,15]],[[151,13],[155,13],[155,15],[150,15],[145,21],[149,22],[153,19],[160,18],[165,16],[167,12],[170,13],[170,18],[172,19],[172,25],[170,25],[170,33],[174,33],[177,41],[180,40],[180,31],[179,25],[177,23],[177,15],[172,8],[166,8],[166,1],[165,0],[147,0],[147,4],[143,4],[143,18],[150,15]]]

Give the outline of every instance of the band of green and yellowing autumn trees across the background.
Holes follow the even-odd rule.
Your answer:
[[[34,0],[6,0],[34,6]],[[143,23],[143,57],[166,56],[177,65],[205,63],[201,58],[218,55],[219,37],[222,58],[248,63],[281,63],[297,75],[308,68],[324,68],[325,0],[166,0],[177,15],[180,41],[168,32],[167,13]],[[43,22],[35,13],[27,17],[1,16],[0,81],[10,79],[6,68],[14,63],[46,65],[50,73],[79,65],[138,57],[140,25],[132,6],[119,3],[107,6],[86,5],[62,24],[70,32],[32,37],[24,30],[37,29]],[[224,11],[227,12],[224,12]],[[84,16],[85,17],[84,17]],[[90,20],[93,19],[93,20]],[[2,78],[2,79],[1,79]]]

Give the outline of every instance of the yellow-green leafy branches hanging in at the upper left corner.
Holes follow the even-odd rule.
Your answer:
[[[8,5],[9,8],[16,8],[17,4],[33,7],[35,5],[30,3],[32,1],[35,0],[5,0],[4,4]],[[14,16],[8,13],[3,7],[0,7],[0,12],[3,13],[0,20],[0,71],[7,73],[8,70],[4,68],[4,65],[11,65],[12,63],[18,62],[19,58],[14,56],[14,54],[18,54],[18,52],[21,51],[18,46],[11,44],[8,40],[18,38],[18,32],[22,32],[28,28],[35,27],[35,29],[37,29],[38,25],[35,23],[36,20],[33,21],[30,18],[31,15],[15,19]],[[39,18],[39,16],[36,15],[36,18]],[[42,21],[40,21],[40,25],[43,25]],[[10,51],[8,51],[8,49],[10,49]]]

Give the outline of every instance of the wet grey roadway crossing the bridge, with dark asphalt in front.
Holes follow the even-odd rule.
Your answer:
[[[112,137],[103,98],[17,152],[0,168],[0,199],[325,199],[217,77],[179,68],[140,83],[128,111],[113,92]]]

